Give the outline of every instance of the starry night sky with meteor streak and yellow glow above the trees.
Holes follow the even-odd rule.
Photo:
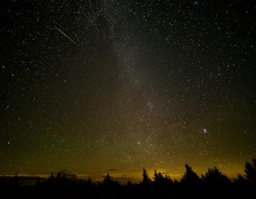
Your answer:
[[[0,4],[0,175],[234,177],[256,156],[256,4]]]

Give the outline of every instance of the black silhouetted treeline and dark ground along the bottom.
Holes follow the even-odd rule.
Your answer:
[[[51,173],[43,180],[38,178],[34,185],[21,185],[22,176],[1,177],[1,195],[8,198],[255,198],[256,159],[245,163],[245,174],[239,174],[233,181],[218,168],[198,176],[188,164],[180,181],[154,171],[149,177],[142,171],[142,181],[128,181],[122,185],[107,173],[102,182],[76,178],[75,175]],[[1,197],[0,195],[0,197]]]

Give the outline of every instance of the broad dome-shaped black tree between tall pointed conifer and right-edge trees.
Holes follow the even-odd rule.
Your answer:
[[[208,171],[205,175],[202,175],[203,182],[205,183],[215,183],[215,184],[223,184],[230,183],[230,179],[220,170],[214,166],[213,168],[208,168]]]

